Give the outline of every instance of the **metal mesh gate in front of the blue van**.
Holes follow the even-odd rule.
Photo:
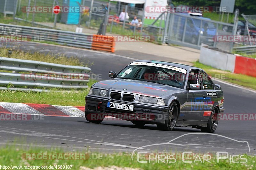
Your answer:
[[[209,18],[190,16],[188,13],[172,13],[168,30],[168,42],[200,49],[201,44],[230,51],[230,44],[218,39],[218,35],[233,35],[233,24],[212,21]]]

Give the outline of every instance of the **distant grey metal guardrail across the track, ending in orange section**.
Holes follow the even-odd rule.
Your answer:
[[[110,38],[98,40],[95,45],[94,37],[100,35],[86,35],[84,33],[71,32],[71,31],[62,31],[62,30],[54,30],[48,28],[38,28],[38,27],[30,27],[30,26],[21,26],[21,25],[10,25],[10,24],[1,24],[0,23],[0,35],[8,35],[8,36],[19,36],[21,41],[23,40],[22,36],[24,36],[25,40],[33,40],[33,41],[52,41],[56,42],[60,45],[67,45],[73,47],[82,47],[89,48],[94,50],[102,50],[115,52],[114,48],[114,39]],[[106,48],[106,44],[111,44],[111,48]],[[105,46],[105,47],[104,47]]]

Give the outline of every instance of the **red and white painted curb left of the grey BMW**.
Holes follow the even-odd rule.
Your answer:
[[[55,106],[49,104],[0,102],[0,113],[61,117],[84,117],[84,106]]]

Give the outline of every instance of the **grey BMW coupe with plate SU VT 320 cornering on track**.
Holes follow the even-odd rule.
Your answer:
[[[137,60],[112,80],[92,85],[85,97],[85,118],[100,123],[105,116],[131,121],[138,126],[156,124],[172,131],[192,126],[214,132],[224,112],[224,96],[204,70],[164,61]]]

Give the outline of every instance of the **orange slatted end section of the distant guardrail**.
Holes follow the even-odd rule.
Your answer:
[[[92,49],[115,52],[115,38],[107,35],[93,35]]]

